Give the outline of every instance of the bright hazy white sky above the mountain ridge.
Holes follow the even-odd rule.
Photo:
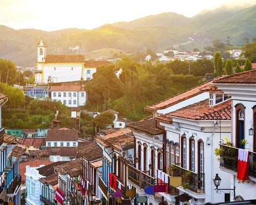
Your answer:
[[[256,0],[0,0],[0,25],[45,31],[93,29],[163,12],[191,17],[227,3],[254,5]]]

